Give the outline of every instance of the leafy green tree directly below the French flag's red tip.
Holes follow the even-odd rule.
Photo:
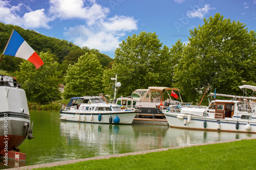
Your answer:
[[[24,60],[15,75],[18,82],[23,84],[29,102],[47,104],[60,99],[60,65],[53,62],[51,54],[40,53],[39,56],[44,65],[36,69],[31,62]]]

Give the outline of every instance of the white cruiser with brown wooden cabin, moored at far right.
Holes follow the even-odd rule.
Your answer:
[[[256,91],[255,86],[239,87]],[[253,93],[252,96],[211,93],[232,100],[214,100],[208,107],[172,105],[162,112],[170,127],[256,133],[256,97]]]

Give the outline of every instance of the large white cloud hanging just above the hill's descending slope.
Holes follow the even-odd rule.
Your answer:
[[[92,27],[80,25],[69,28],[64,35],[76,45],[110,52],[118,47],[126,31],[137,30],[137,20],[132,17],[114,16],[105,20],[100,20]]]

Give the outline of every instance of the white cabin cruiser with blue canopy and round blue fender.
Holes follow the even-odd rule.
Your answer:
[[[71,98],[65,109],[60,110],[60,119],[98,124],[132,124],[137,114],[134,108],[108,104],[101,96]]]

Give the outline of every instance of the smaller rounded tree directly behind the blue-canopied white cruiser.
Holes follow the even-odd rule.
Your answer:
[[[102,77],[103,69],[97,56],[86,53],[79,57],[77,63],[68,67],[64,98],[98,95],[102,92]]]

